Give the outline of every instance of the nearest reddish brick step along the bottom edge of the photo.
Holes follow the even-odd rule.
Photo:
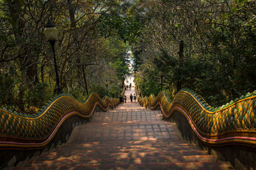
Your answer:
[[[33,166],[20,166],[7,169],[20,170],[20,169],[216,169],[228,170],[234,169],[229,162],[182,162],[182,163],[169,163],[169,162],[147,162],[142,164],[139,161],[131,164],[131,162],[118,162],[118,163],[99,163],[99,162],[66,162],[61,164],[56,162],[44,162],[42,164],[33,164]]]

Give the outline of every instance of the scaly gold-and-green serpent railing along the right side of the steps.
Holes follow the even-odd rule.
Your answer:
[[[219,108],[210,106],[190,89],[180,90],[172,102],[164,92],[157,97],[138,97],[138,101],[152,110],[160,106],[165,118],[178,111],[206,145],[256,146],[256,90]]]

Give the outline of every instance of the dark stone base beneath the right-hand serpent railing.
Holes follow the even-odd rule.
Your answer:
[[[230,162],[235,169],[256,169],[256,148],[243,145],[209,146],[202,143],[191,129],[184,115],[175,111],[167,121],[175,122],[182,137],[191,143],[196,143],[209,154],[221,161]]]

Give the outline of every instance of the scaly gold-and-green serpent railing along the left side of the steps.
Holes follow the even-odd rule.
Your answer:
[[[54,97],[33,115],[15,113],[0,108],[0,150],[35,150],[44,148],[54,138],[60,126],[70,117],[90,118],[95,108],[107,111],[118,105],[118,99],[91,93],[83,101],[67,94]]]

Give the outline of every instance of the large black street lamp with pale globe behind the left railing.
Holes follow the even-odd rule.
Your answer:
[[[55,68],[55,74],[56,74],[56,84],[57,84],[57,88],[58,88],[57,94],[61,94],[61,93],[63,93],[63,91],[61,90],[61,87],[60,87],[60,77],[58,74],[58,67],[57,67],[57,63],[56,63],[56,56],[55,56],[55,50],[54,50],[54,45],[58,38],[58,31],[57,31],[56,27],[54,27],[54,24],[51,21],[48,21],[47,24],[45,25],[44,34],[45,34],[47,41],[49,41],[49,43],[52,46],[54,68]]]

